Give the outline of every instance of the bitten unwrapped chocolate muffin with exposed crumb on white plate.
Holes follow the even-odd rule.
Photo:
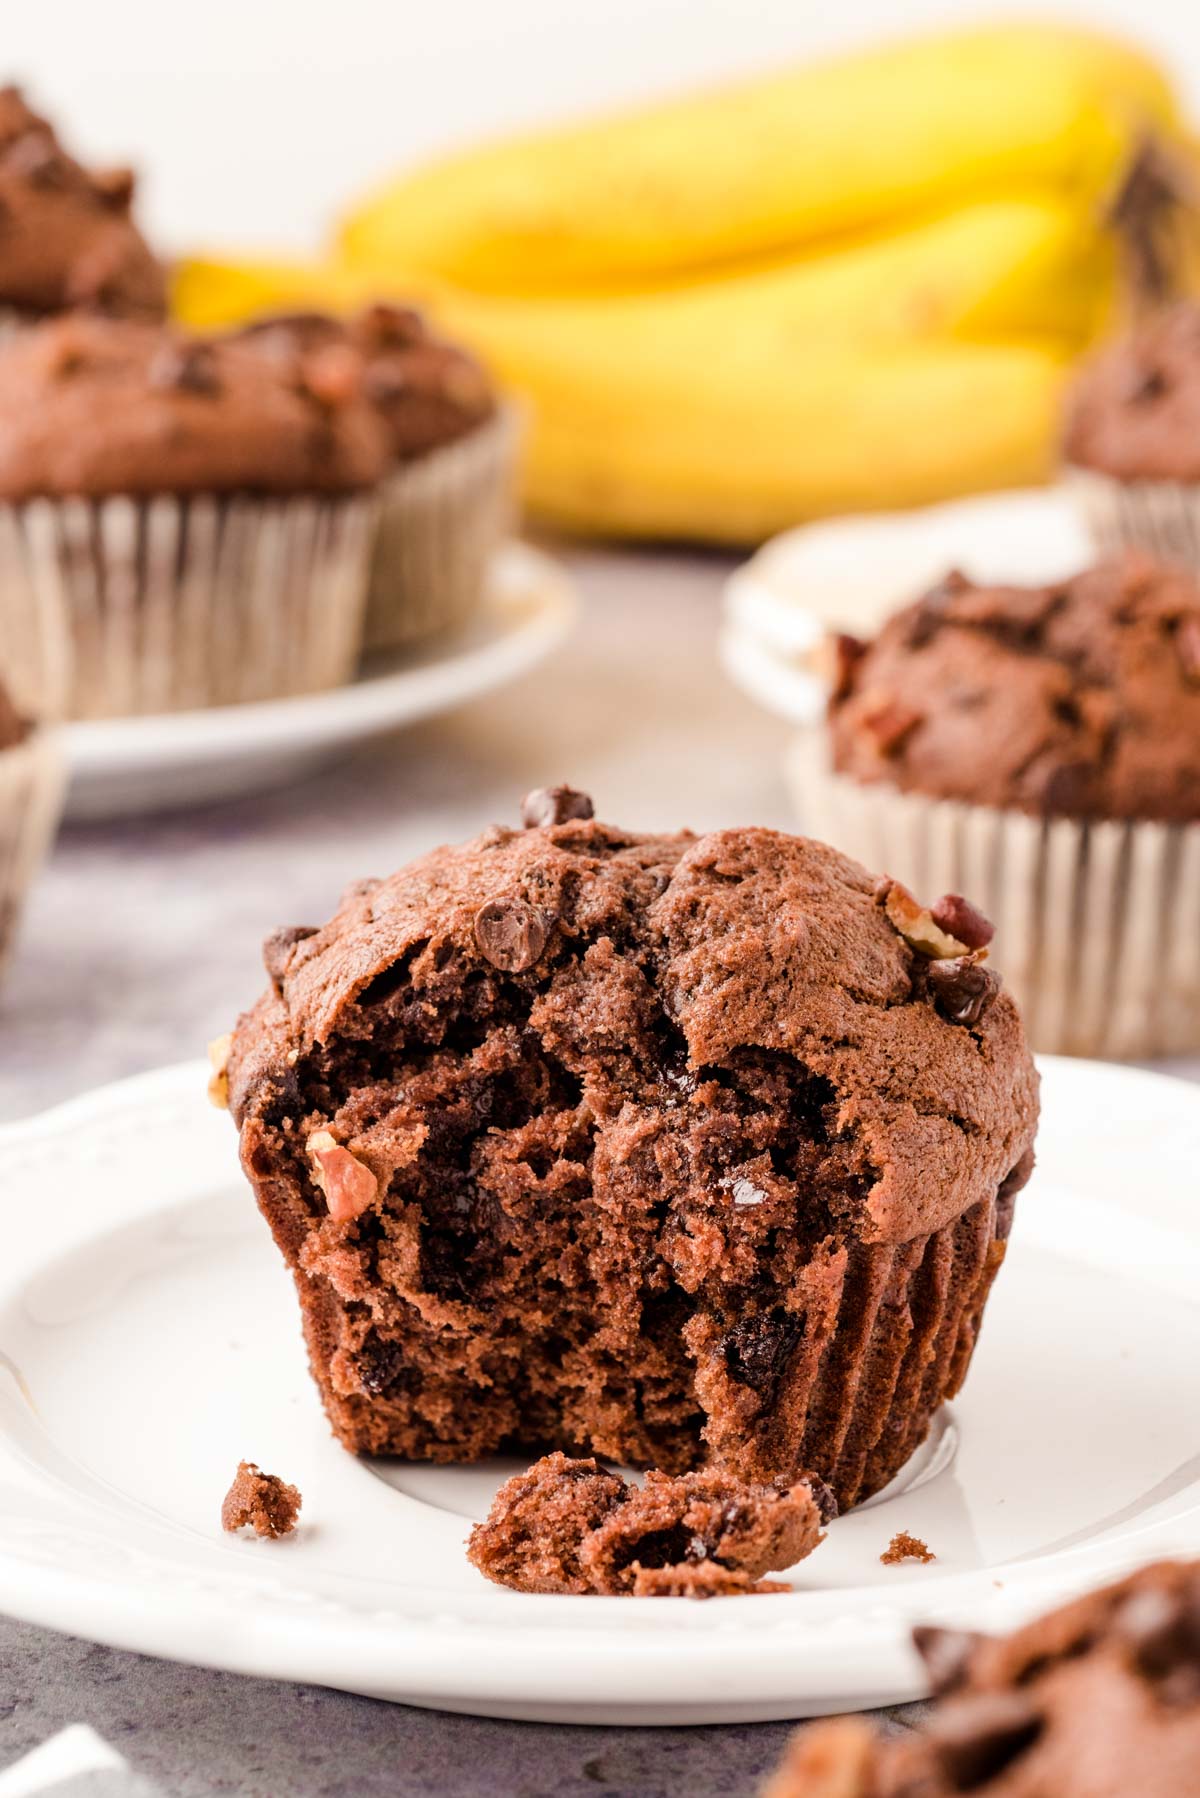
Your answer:
[[[988,926],[772,831],[525,818],[275,931],[218,1055],[333,1429],[851,1505],[963,1383],[1033,1163]]]

